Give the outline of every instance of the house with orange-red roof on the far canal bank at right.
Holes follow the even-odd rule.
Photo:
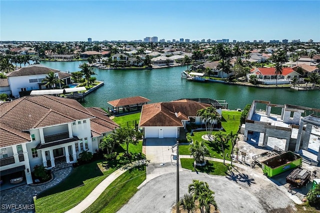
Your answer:
[[[261,84],[290,84],[294,77],[297,78],[297,83],[303,82],[303,78],[300,78],[300,74],[289,67],[283,67],[282,73],[278,75],[275,75],[274,67],[257,67],[250,70],[250,73],[247,74],[248,79],[250,78],[250,75],[256,75],[257,81]]]

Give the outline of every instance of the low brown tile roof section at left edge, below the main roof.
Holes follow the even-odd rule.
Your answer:
[[[0,123],[0,147],[7,147],[14,144],[21,144],[30,141],[27,133],[14,130]]]

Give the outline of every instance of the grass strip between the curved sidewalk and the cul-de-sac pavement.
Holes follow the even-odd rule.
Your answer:
[[[83,213],[116,213],[138,191],[136,188],[145,180],[145,166],[126,171]]]

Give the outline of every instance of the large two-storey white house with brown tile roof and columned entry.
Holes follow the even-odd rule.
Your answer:
[[[75,163],[82,151],[95,153],[99,141],[119,126],[96,107],[48,95],[0,104],[1,180],[22,171],[32,183],[34,166]]]

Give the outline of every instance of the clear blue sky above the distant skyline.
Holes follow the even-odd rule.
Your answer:
[[[320,40],[320,1],[0,0],[0,40]]]

